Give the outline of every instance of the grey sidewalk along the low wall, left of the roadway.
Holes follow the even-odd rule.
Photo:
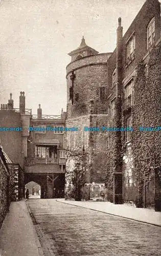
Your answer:
[[[10,205],[0,229],[0,255],[43,255],[25,200]]]

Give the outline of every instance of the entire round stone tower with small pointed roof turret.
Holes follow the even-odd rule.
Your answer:
[[[82,155],[85,156],[83,161],[86,162],[86,183],[103,182],[107,138],[101,129],[99,132],[87,132],[85,127],[102,127],[108,124],[106,95],[107,60],[110,54],[98,54],[95,49],[86,45],[84,37],[80,46],[68,53],[72,59],[66,67],[65,125],[78,127],[77,132],[66,133],[66,181],[69,183],[75,166],[82,162]],[[99,161],[102,161],[102,165],[98,166]]]

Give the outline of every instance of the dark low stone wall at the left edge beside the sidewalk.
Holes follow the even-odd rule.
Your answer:
[[[0,227],[9,210],[9,169],[0,147]]]

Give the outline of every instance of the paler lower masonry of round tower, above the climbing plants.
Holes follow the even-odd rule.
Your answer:
[[[78,127],[78,132],[66,133],[67,150],[82,152],[83,148],[88,155],[86,169],[87,183],[104,182],[106,169],[107,133],[101,132],[102,126],[107,126],[107,115],[89,115],[74,119],[67,119],[66,126]],[[99,127],[99,132],[84,131],[85,127]],[[66,169],[70,169],[75,156],[67,159]]]

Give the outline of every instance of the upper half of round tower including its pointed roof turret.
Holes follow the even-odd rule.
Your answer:
[[[107,111],[107,59],[110,53],[98,54],[85,44],[68,53],[72,62],[66,67],[67,118]]]

